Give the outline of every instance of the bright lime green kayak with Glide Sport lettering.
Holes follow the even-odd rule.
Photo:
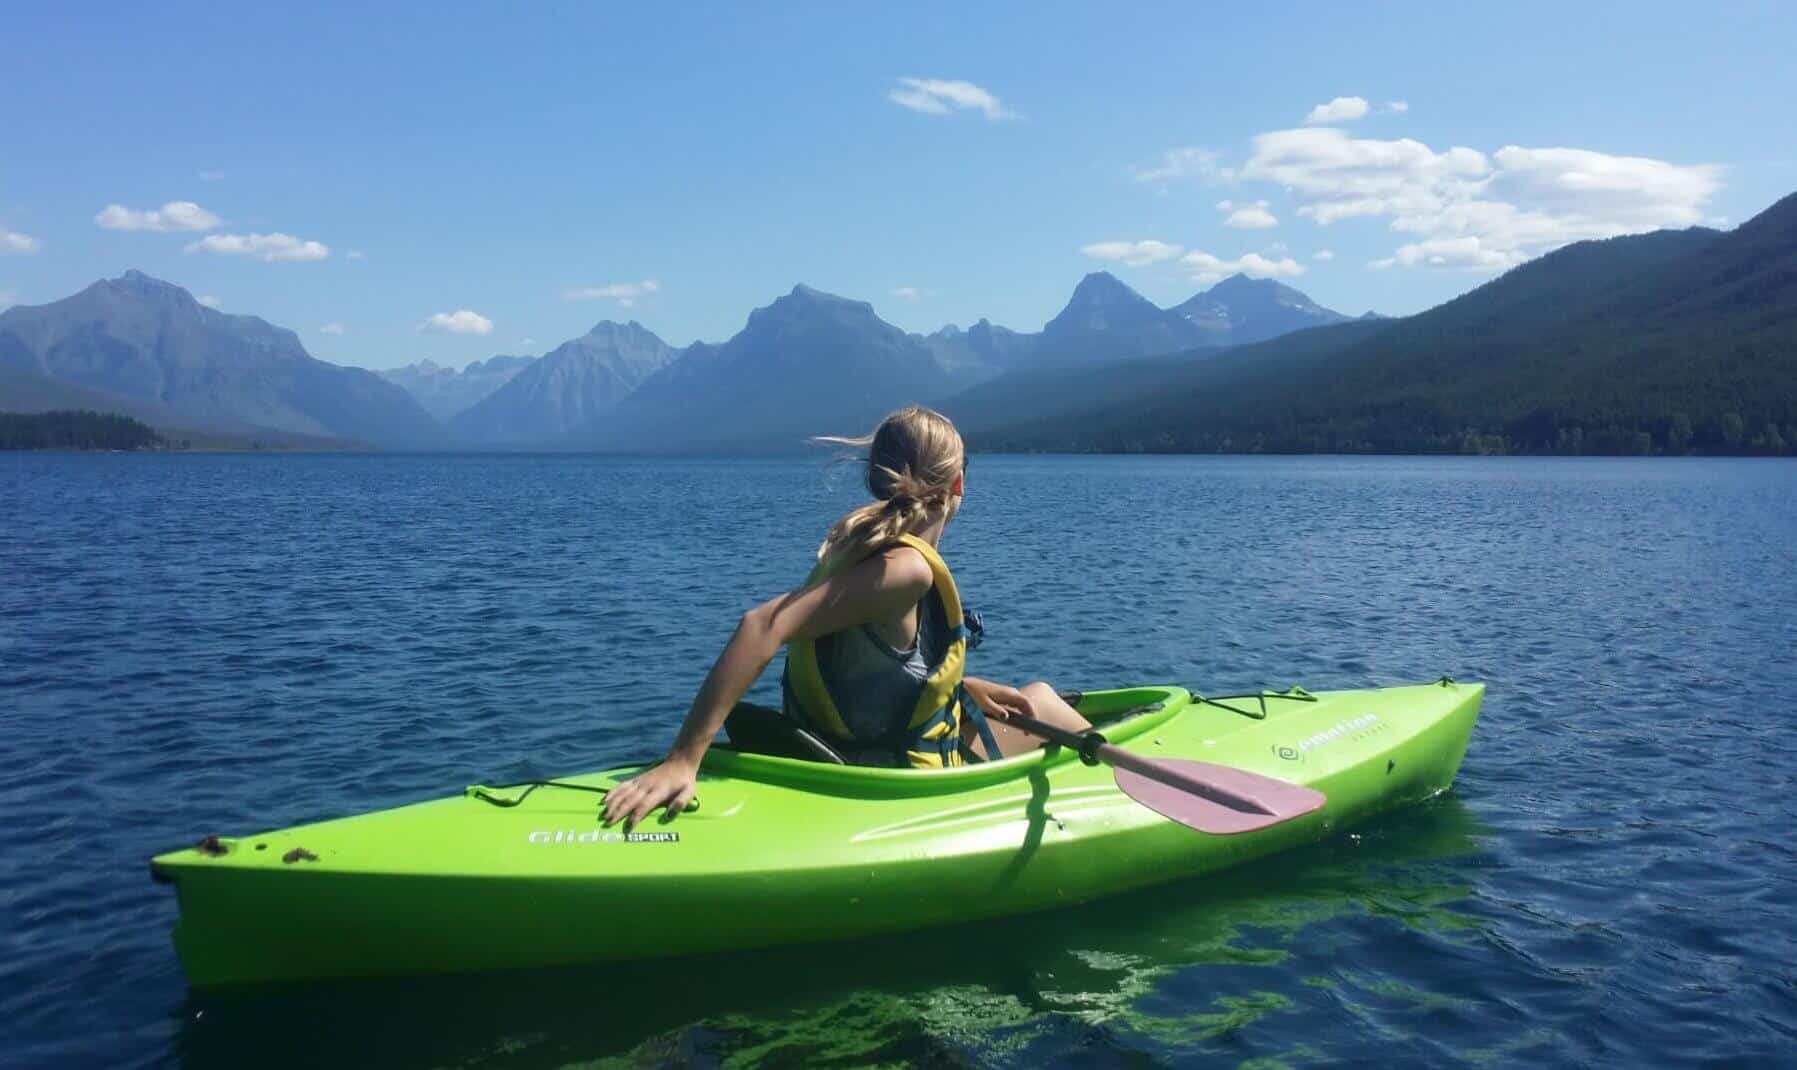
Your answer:
[[[1445,791],[1481,683],[1200,698],[1087,692],[1121,748],[1326,795],[1303,816],[1208,834],[1139,806],[1066,748],[956,770],[875,770],[715,746],[699,807],[600,827],[640,766],[151,860],[174,885],[196,987],[692,955],[1048,910],[1321,840]]]

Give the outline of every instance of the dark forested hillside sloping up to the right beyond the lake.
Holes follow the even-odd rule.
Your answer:
[[[1797,196],[1567,246],[1427,313],[1299,331],[978,435],[1107,451],[1797,453]]]

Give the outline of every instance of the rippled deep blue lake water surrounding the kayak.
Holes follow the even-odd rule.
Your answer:
[[[943,550],[987,617],[981,674],[1484,680],[1456,789],[1224,878],[979,926],[960,953],[194,998],[153,852],[652,753],[854,477],[0,455],[0,1063],[1797,1052],[1797,466],[978,457],[969,491]]]

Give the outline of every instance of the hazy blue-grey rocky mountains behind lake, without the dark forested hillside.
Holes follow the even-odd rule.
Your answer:
[[[792,448],[810,433],[864,430],[902,401],[1190,349],[1231,338],[1236,322],[1265,331],[1260,306],[1303,309],[1292,325],[1344,318],[1276,282],[1235,279],[1208,293],[1231,295],[1211,299],[1218,320],[1233,313],[1220,329],[1094,273],[1039,333],[979,320],[913,334],[868,302],[794,286],[722,343],[676,349],[638,322],[600,322],[543,356],[374,374],[314,360],[291,331],[126,272],[0,313],[0,410],[119,412],[181,437],[300,448]]]

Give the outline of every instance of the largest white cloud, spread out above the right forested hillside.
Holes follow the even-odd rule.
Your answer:
[[[1506,146],[1490,158],[1341,129],[1254,138],[1244,178],[1283,185],[1319,225],[1384,218],[1414,236],[1375,266],[1502,270],[1572,241],[1702,223],[1720,167]]]

